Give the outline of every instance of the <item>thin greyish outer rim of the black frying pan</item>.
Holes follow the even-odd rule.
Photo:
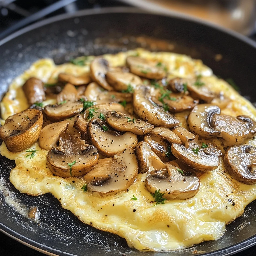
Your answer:
[[[35,30],[37,28],[43,27],[45,25],[54,23],[54,22],[58,22],[61,20],[65,20],[65,19],[69,19],[69,18],[78,18],[81,16],[90,16],[90,15],[97,15],[97,14],[109,14],[109,13],[136,13],[136,14],[151,14],[151,15],[161,15],[161,16],[167,16],[167,17],[173,17],[173,18],[178,18],[178,19],[182,19],[182,20],[187,20],[190,22],[194,22],[194,23],[198,23],[200,25],[204,25],[206,27],[211,27],[214,28],[216,30],[219,30],[223,33],[226,33],[232,37],[235,37],[236,39],[246,43],[247,45],[253,47],[256,49],[256,42],[253,41],[252,39],[243,36],[235,31],[232,31],[230,29],[227,28],[223,28],[220,27],[219,25],[213,24],[211,22],[207,22],[204,20],[201,20],[199,18],[196,17],[191,17],[191,16],[187,16],[185,14],[179,14],[179,13],[173,13],[173,14],[167,14],[167,13],[161,13],[161,12],[150,12],[150,11],[146,11],[146,10],[141,10],[138,8],[134,8],[134,7],[107,7],[107,8],[101,8],[101,9],[87,9],[87,10],[81,10],[78,11],[76,13],[73,14],[62,14],[62,15],[58,15],[55,17],[51,17],[48,18],[46,20],[42,20],[40,22],[36,22],[32,25],[29,25],[23,29],[20,29],[18,31],[16,31],[15,33],[7,36],[6,38],[2,39],[0,41],[0,47],[3,46],[4,44],[6,44],[7,42],[9,42],[10,40],[15,39],[16,37],[23,35],[29,31]],[[14,240],[32,248],[35,249],[41,253],[45,253],[47,255],[52,255],[52,256],[58,256],[58,255],[68,255],[68,256],[77,256],[74,254],[70,254],[67,252],[63,252],[63,251],[59,251],[57,249],[48,247],[44,244],[38,243],[36,241],[33,241],[27,237],[24,237],[23,235],[15,232],[14,230],[8,228],[7,226],[3,225],[2,223],[0,223],[0,231],[3,232],[4,234],[6,234],[7,236],[13,238]],[[254,246],[256,244],[256,234],[248,239],[243,240],[242,242],[233,244],[232,246],[220,249],[220,250],[216,250],[214,252],[211,253],[203,253],[200,254],[202,256],[228,256],[228,255],[233,255],[237,252],[243,251],[245,249],[248,249],[252,246]],[[43,249],[42,249],[43,248]]]

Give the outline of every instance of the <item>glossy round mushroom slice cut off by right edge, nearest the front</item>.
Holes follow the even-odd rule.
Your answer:
[[[256,183],[256,148],[250,145],[233,146],[224,157],[228,173],[244,184]]]

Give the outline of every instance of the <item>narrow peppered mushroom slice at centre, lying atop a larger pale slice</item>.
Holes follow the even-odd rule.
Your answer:
[[[106,113],[106,122],[116,131],[132,132],[137,135],[147,134],[154,128],[152,124],[116,111]]]

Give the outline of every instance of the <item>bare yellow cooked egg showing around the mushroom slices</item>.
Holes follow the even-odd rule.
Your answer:
[[[224,80],[215,77],[211,69],[199,60],[173,53],[150,53],[143,49],[105,55],[105,58],[112,66],[122,66],[126,57],[136,52],[144,58],[166,64],[172,73],[170,77],[189,78],[195,72],[202,73],[205,76],[203,81],[213,91],[223,91],[231,99],[226,109],[222,110],[223,114],[248,115],[256,120],[256,110],[251,103]],[[64,71],[79,75],[89,72],[89,66],[55,66],[49,59],[37,61],[10,85],[1,102],[3,118],[28,107],[20,87],[29,77],[34,76],[52,83],[58,73]],[[187,115],[188,112],[176,114],[184,127]],[[255,146],[254,141],[249,143]],[[63,179],[53,176],[46,165],[47,151],[41,149],[38,143],[31,148],[38,150],[32,159],[25,158],[29,154],[25,151],[9,152],[5,143],[0,147],[3,156],[16,162],[16,167],[10,173],[10,181],[21,193],[34,196],[51,193],[63,208],[70,210],[82,222],[118,234],[126,239],[129,246],[138,250],[177,250],[217,239],[225,233],[225,226],[242,215],[244,208],[256,199],[256,185],[242,184],[225,173],[222,159],[216,170],[199,173],[199,192],[188,200],[170,200],[154,206],[153,198],[144,186],[146,174],[139,174],[128,192],[101,197],[81,190],[85,184],[83,178]],[[133,195],[138,200],[131,200]]]

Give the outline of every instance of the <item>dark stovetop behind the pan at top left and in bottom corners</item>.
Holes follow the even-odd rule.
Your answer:
[[[49,8],[49,6],[52,8]],[[14,31],[41,19],[46,19],[63,13],[72,13],[82,9],[111,6],[127,5],[114,0],[0,0],[0,39],[2,39],[1,36],[7,36]],[[25,22],[22,23],[21,21],[24,19]],[[256,34],[251,35],[250,37],[256,41]],[[255,255],[255,249],[256,246],[237,253],[236,255]],[[12,238],[9,238],[1,232],[0,254],[3,256],[45,255],[35,251],[34,249],[28,248],[27,246],[13,240]]]

